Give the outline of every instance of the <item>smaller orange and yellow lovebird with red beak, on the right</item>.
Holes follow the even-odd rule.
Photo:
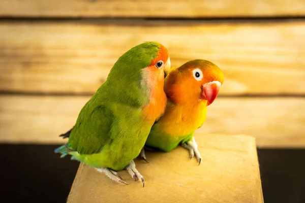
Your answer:
[[[223,82],[222,71],[207,60],[192,60],[172,69],[164,81],[165,113],[151,127],[145,146],[168,152],[180,144],[200,164],[193,133],[205,121],[207,106],[215,100]],[[144,149],[140,156],[146,160]]]

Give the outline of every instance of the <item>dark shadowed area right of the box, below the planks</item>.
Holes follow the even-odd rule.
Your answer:
[[[258,149],[265,203],[305,202],[305,149]]]

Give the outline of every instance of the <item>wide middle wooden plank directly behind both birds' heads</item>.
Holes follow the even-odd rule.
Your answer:
[[[216,63],[220,95],[305,93],[304,21],[2,22],[0,33],[0,91],[93,94],[121,54],[159,41],[173,66]]]

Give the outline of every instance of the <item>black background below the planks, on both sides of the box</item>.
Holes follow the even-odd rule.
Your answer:
[[[66,202],[79,165],[58,145],[0,144],[1,202]],[[305,149],[258,149],[266,203],[305,202]]]

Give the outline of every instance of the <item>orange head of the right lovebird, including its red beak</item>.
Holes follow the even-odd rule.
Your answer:
[[[224,82],[217,65],[207,60],[192,60],[171,71],[165,78],[164,91],[175,104],[212,104]]]

